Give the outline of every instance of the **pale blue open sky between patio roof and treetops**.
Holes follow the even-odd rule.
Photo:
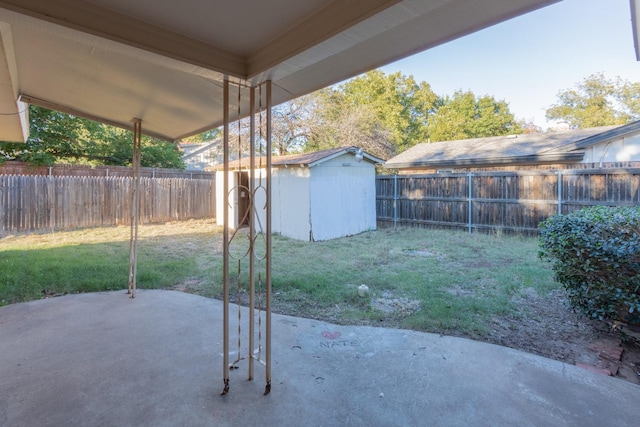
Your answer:
[[[640,82],[629,0],[563,0],[382,68],[427,82],[440,96],[457,90],[509,104],[543,130],[560,91],[603,73]]]

